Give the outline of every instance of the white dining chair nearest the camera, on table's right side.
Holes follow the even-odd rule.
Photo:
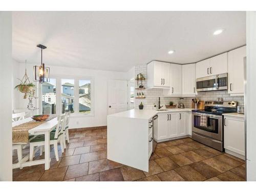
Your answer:
[[[50,145],[54,146],[54,153],[56,160],[59,161],[58,156],[58,143],[60,143],[61,151],[64,152],[63,148],[63,140],[65,138],[63,137],[63,127],[65,127],[65,114],[58,116],[58,124],[56,126],[56,131],[50,133]],[[45,135],[38,135],[34,139],[30,141],[30,154],[29,154],[29,160],[32,161],[34,157],[34,147],[40,146],[38,150],[40,149],[40,155],[42,155],[42,148],[45,145]]]

